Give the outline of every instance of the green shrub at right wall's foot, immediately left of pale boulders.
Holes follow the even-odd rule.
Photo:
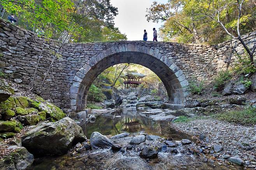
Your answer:
[[[232,73],[227,70],[227,71],[221,71],[219,74],[214,78],[213,85],[214,88],[217,91],[221,91],[224,88],[224,85],[228,80],[232,78]]]

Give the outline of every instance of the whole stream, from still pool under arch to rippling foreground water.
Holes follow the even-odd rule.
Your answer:
[[[80,125],[90,137],[92,132],[103,135],[130,133],[131,137],[113,140],[126,148],[132,134],[146,133],[169,138],[174,141],[191,139],[191,136],[171,129],[168,121],[153,121],[150,115],[136,108],[120,108],[112,114],[96,116],[95,122],[81,122]],[[193,141],[193,140],[192,140]],[[109,149],[92,149],[84,153],[69,153],[62,156],[51,156],[35,159],[30,170],[242,170],[244,167],[232,166],[218,161],[206,161],[202,156],[188,154],[188,148],[179,144],[177,152],[159,151],[158,158],[152,160],[140,158],[140,150],[145,145],[159,145],[160,141],[148,142],[114,152]]]

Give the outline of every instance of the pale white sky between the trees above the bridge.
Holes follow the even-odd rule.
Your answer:
[[[118,8],[115,26],[121,33],[127,35],[128,40],[143,40],[144,29],[147,30],[148,41],[153,40],[153,28],[158,30],[163,23],[147,22],[146,9],[154,0],[111,0],[114,7]],[[158,0],[167,3],[167,0]]]

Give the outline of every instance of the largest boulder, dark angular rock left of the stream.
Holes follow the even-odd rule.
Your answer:
[[[73,144],[85,140],[82,128],[71,118],[63,118],[32,127],[22,137],[22,146],[38,156],[61,155],[67,153]]]

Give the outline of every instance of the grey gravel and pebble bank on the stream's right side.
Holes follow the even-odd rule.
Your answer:
[[[239,156],[245,166],[256,167],[256,125],[236,125],[209,118],[170,123],[170,126],[198,139],[196,143],[202,148],[202,153],[221,161]]]

